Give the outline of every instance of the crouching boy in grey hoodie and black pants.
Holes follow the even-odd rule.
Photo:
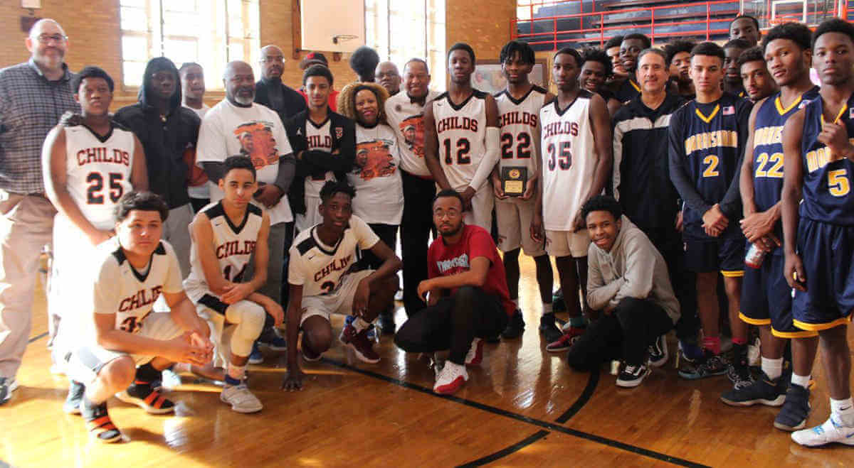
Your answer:
[[[666,353],[658,361],[647,361],[647,350],[679,320],[679,301],[664,257],[623,216],[616,199],[589,199],[582,217],[593,240],[588,248],[588,303],[603,315],[572,345],[567,358],[570,366],[584,370],[618,358],[623,366],[617,385],[635,387],[650,373],[649,365],[661,367],[667,361]]]

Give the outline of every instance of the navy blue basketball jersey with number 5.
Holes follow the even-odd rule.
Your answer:
[[[817,222],[854,226],[854,194],[851,175],[854,163],[842,158],[830,161],[830,148],[818,141],[824,124],[824,101],[818,98],[804,108],[804,136],[801,140],[804,165],[804,202],[800,215]],[[854,95],[848,98],[834,121],[845,124],[854,143]]]

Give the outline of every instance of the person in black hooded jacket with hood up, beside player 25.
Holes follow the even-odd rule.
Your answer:
[[[196,147],[199,116],[181,106],[178,68],[165,57],[155,57],[145,66],[139,102],[122,107],[115,121],[126,126],[143,143],[149,168],[149,190],[169,206],[163,222],[163,239],[178,256],[181,274],[190,274],[190,222],[193,209],[187,192],[190,168],[184,152]]]

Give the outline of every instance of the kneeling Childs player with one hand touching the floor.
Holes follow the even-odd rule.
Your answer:
[[[302,357],[318,361],[332,344],[333,313],[355,315],[341,332],[343,344],[360,361],[374,364],[379,355],[367,338],[368,326],[389,308],[397,291],[401,259],[360,217],[353,216],[356,190],[347,182],[326,182],[320,189],[322,222],[296,236],[290,247],[288,303],[288,375],[284,390],[300,390],[305,374],[296,359],[302,330]],[[356,248],[383,261],[376,270],[359,269]]]

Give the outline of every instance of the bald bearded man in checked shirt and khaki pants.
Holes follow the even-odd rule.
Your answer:
[[[38,258],[53,238],[56,209],[44,196],[42,143],[63,113],[80,112],[62,26],[39,20],[25,43],[30,60],[0,70],[0,405],[18,387]]]

